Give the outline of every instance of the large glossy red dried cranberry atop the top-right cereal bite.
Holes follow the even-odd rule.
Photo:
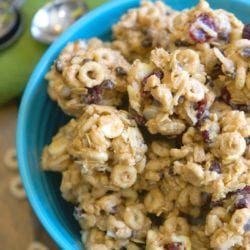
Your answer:
[[[190,25],[189,28],[189,35],[190,37],[195,41],[199,43],[207,42],[211,39],[211,36],[207,34],[205,30],[202,28],[197,28],[198,23],[203,23],[203,25],[206,25],[208,28],[210,28],[213,31],[216,31],[217,28],[215,26],[214,20],[209,14],[203,13],[200,14]]]

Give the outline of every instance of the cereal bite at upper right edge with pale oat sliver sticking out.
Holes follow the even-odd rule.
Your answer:
[[[250,110],[250,40],[239,39],[228,45],[222,54],[215,50],[220,74],[215,81],[221,99],[233,109]],[[247,53],[249,52],[249,55]]]

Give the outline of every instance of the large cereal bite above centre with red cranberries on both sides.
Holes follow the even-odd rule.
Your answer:
[[[206,115],[214,101],[214,93],[205,85],[199,54],[191,49],[173,53],[155,49],[148,63],[133,63],[129,79],[132,112],[152,134],[183,133]]]

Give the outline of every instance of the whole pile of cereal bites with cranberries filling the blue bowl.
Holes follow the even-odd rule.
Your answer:
[[[142,1],[112,42],[66,46],[46,78],[76,118],[42,167],[86,249],[249,249],[249,63],[250,25],[203,0]]]

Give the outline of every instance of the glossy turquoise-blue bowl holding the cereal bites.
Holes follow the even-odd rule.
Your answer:
[[[167,0],[174,9],[181,10],[198,3],[195,0]],[[214,8],[224,8],[250,23],[248,0],[211,0]],[[73,206],[60,195],[61,176],[45,173],[40,167],[45,144],[68,121],[68,117],[47,94],[44,76],[62,48],[79,38],[111,39],[111,27],[128,9],[139,5],[138,0],[111,1],[77,21],[46,51],[37,64],[25,89],[17,124],[17,154],[20,173],[29,201],[45,229],[58,246],[67,250],[84,249],[80,228],[73,218]]]

